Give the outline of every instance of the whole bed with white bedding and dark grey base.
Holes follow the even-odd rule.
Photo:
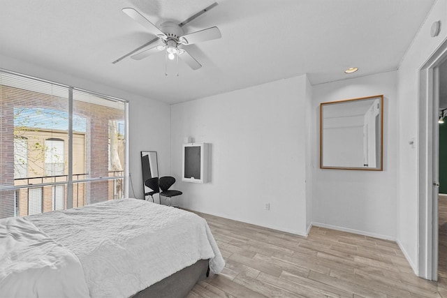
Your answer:
[[[205,219],[144,200],[0,220],[1,297],[184,297],[224,265]]]

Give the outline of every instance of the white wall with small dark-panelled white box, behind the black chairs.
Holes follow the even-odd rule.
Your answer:
[[[171,173],[184,192],[177,204],[305,234],[309,88],[302,75],[173,105]],[[180,181],[184,137],[212,144],[210,183]]]

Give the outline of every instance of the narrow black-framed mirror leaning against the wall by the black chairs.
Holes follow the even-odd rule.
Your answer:
[[[145,195],[145,200],[154,200],[160,202],[159,184],[146,183],[149,179],[159,178],[159,163],[156,157],[156,151],[141,151],[141,169],[142,169],[142,185]],[[149,186],[147,186],[149,184]]]

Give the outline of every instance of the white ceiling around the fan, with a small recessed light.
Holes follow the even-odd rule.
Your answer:
[[[0,54],[178,103],[307,73],[312,84],[395,70],[434,0],[220,0],[186,33],[217,26],[222,38],[187,47],[203,65],[119,57],[155,36],[154,24],[186,20],[213,0],[2,0]],[[346,75],[344,70],[360,70]],[[1,65],[0,65],[1,68]]]

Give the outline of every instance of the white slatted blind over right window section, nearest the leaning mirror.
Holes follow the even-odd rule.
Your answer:
[[[87,203],[123,198],[124,103],[75,89],[73,116],[73,178],[96,181],[85,184]],[[77,137],[82,131],[86,142]]]

